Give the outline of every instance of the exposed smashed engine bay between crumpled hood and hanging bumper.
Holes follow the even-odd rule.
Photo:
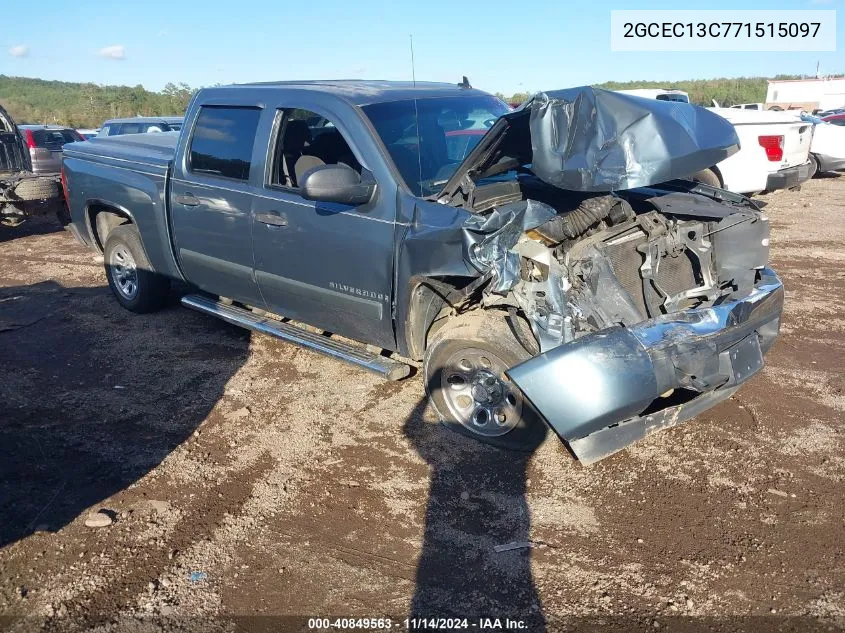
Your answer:
[[[553,215],[517,239],[518,277],[490,284],[483,305],[518,308],[546,351],[747,292],[768,260],[768,220],[747,199],[691,187],[506,202]]]

